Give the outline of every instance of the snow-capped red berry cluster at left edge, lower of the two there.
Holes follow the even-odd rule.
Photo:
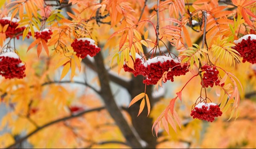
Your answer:
[[[6,79],[26,77],[25,69],[25,65],[16,53],[7,52],[0,55],[0,74]]]

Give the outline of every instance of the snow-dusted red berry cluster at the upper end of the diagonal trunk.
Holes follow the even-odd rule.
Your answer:
[[[93,57],[100,51],[100,48],[95,46],[94,43],[95,41],[90,38],[79,38],[75,39],[71,46],[76,52],[76,56],[84,58],[90,55],[90,57]]]

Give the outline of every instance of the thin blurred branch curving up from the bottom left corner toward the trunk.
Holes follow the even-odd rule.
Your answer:
[[[39,132],[41,129],[44,129],[48,126],[51,126],[55,123],[59,123],[61,121],[65,121],[65,120],[70,120],[72,118],[75,118],[75,117],[79,117],[79,116],[82,116],[86,113],[89,113],[89,112],[95,112],[95,111],[100,111],[102,109],[105,109],[105,107],[99,107],[99,108],[95,108],[95,109],[90,109],[90,110],[85,110],[83,112],[80,112],[79,114],[76,114],[76,115],[70,115],[70,116],[67,116],[67,117],[62,117],[60,119],[57,119],[57,120],[53,120],[49,123],[46,123],[44,124],[43,126],[39,126],[37,129],[35,129],[34,131],[30,132],[29,134],[27,134],[26,136],[20,138],[19,140],[16,140],[15,143],[11,144],[10,146],[7,146],[7,147],[4,147],[4,149],[11,149],[11,148],[15,148],[15,146],[21,142],[23,142],[24,140],[26,140],[27,138],[31,137],[32,135],[34,135],[35,133]]]

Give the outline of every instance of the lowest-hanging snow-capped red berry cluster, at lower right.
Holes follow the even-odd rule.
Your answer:
[[[190,114],[193,118],[212,122],[214,117],[222,115],[221,109],[215,103],[199,103]]]

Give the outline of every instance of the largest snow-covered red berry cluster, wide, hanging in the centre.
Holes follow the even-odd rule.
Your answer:
[[[170,68],[172,70],[167,73],[166,81],[171,80],[173,82],[174,76],[185,75],[186,72],[189,72],[187,65],[182,67],[178,60],[167,56],[158,56],[149,59],[139,65],[137,71],[146,77],[146,79],[143,80],[144,84],[153,85],[157,84],[158,80],[163,76],[163,73],[167,72]]]

